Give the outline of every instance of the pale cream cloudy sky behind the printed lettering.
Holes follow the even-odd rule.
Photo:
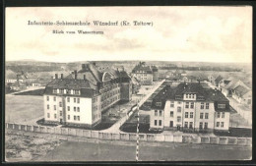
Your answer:
[[[28,22],[91,26],[29,26]],[[94,21],[142,21],[152,27],[96,27]],[[54,34],[52,30],[103,34]],[[6,61],[152,60],[252,62],[252,7],[6,8]]]

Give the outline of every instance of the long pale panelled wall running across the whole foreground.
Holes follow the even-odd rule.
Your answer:
[[[6,129],[28,131],[33,133],[46,133],[61,135],[63,137],[77,136],[80,138],[98,138],[103,140],[136,140],[136,134],[126,133],[104,133],[100,131],[32,126],[21,124],[5,124]],[[252,138],[231,138],[231,137],[200,137],[200,136],[172,136],[160,134],[140,134],[142,141],[166,141],[166,142],[183,142],[183,143],[207,143],[207,144],[238,144],[252,145]]]

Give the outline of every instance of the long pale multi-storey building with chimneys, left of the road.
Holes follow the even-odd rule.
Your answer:
[[[99,72],[95,64],[67,77],[55,79],[45,87],[46,122],[93,127],[101,121],[101,112],[120,100],[131,100],[131,79],[125,71]]]

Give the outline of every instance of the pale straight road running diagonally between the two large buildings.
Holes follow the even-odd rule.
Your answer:
[[[155,85],[154,88],[152,88],[151,90],[149,90],[149,93],[138,103],[139,106],[141,106],[159,87],[160,84],[163,83],[165,80],[161,81],[160,83],[157,83]],[[138,107],[137,107],[138,108]],[[130,108],[124,110],[123,112],[128,112],[130,110]],[[133,109],[133,112],[136,109]],[[128,115],[122,117],[121,119],[119,119],[114,125],[112,125],[110,128],[106,129],[106,130],[102,130],[100,132],[107,132],[107,133],[124,133],[122,131],[119,130],[119,128],[128,120]]]

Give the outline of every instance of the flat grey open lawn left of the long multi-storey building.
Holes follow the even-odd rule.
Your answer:
[[[43,116],[42,96],[6,95],[5,100],[6,122],[24,123]]]

